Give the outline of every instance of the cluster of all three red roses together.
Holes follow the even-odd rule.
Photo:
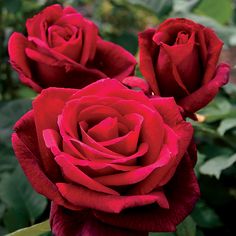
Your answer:
[[[136,59],[72,7],[52,5],[13,33],[19,79],[39,95],[14,127],[16,157],[51,200],[56,236],[172,232],[199,198],[187,116],[229,79],[221,40],[188,19],[138,35]]]

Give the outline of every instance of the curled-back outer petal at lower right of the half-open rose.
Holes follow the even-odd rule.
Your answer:
[[[205,107],[216,96],[219,89],[228,82],[229,71],[229,65],[220,64],[215,77],[210,82],[178,101],[178,104],[190,113]]]

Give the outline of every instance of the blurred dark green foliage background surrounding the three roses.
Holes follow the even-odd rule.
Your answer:
[[[0,0],[0,235],[42,222],[49,214],[47,200],[32,190],[11,147],[12,126],[30,109],[36,94],[11,69],[7,42],[13,31],[26,33],[27,18],[54,3],[74,6],[96,22],[103,38],[134,55],[138,54],[137,33],[168,17],[193,19],[212,27],[226,48],[236,45],[233,0]],[[192,123],[199,150],[196,174],[201,200],[177,232],[150,235],[236,235],[236,86],[224,87],[199,114],[204,121]],[[40,235],[47,227],[39,224],[12,235]]]

